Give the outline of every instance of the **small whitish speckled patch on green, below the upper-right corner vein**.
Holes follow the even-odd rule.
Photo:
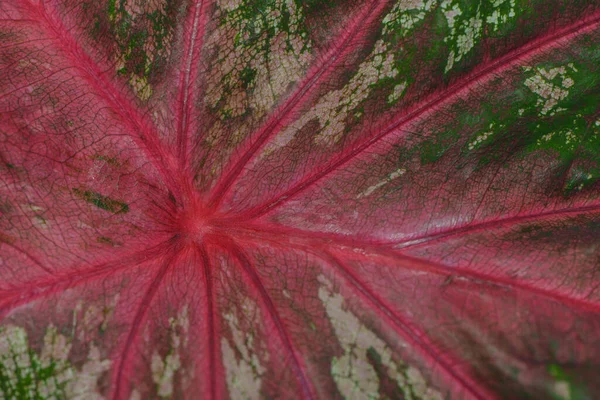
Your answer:
[[[533,68],[525,67],[524,70],[532,71]],[[540,108],[540,115],[555,115],[564,110],[556,106],[569,96],[568,89],[575,84],[569,70],[577,71],[573,64],[549,70],[535,68],[535,75],[525,80],[525,86],[539,97],[536,105]]]

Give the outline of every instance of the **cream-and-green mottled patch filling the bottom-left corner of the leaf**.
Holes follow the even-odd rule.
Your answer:
[[[92,343],[85,363],[76,369],[69,361],[70,352],[69,339],[52,325],[46,329],[40,354],[29,347],[25,329],[14,325],[0,328],[0,370],[9,378],[5,387],[10,391],[21,386],[27,398],[102,399],[98,379],[110,368],[110,360],[103,360]],[[50,376],[48,371],[52,371]],[[0,397],[11,396],[0,389]]]

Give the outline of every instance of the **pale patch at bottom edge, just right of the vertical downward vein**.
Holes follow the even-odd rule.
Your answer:
[[[246,299],[242,309],[245,315],[257,318],[259,310],[252,300]],[[255,352],[254,336],[242,331],[235,314],[225,314],[223,318],[231,330],[233,340],[230,344],[226,338],[221,339],[229,397],[233,400],[258,400],[261,398],[262,376],[266,370]]]

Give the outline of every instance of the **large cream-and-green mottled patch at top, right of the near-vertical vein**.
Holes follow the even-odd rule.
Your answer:
[[[254,18],[246,19],[244,13],[251,9],[248,3],[218,1],[218,18],[223,23],[207,38],[217,65],[207,75],[206,100],[219,110],[222,120],[248,112],[254,119],[261,118],[290,84],[304,76],[311,61],[311,43],[301,32],[304,16],[296,2],[274,0]],[[281,30],[282,10],[289,15],[287,32]],[[255,76],[244,87],[241,77],[246,69]]]

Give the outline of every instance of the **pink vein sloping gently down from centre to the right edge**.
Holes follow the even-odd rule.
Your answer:
[[[400,261],[405,261],[401,264],[403,268],[408,268],[416,271],[422,271],[427,273],[433,273],[437,275],[443,276],[460,276],[466,279],[469,279],[473,282],[484,282],[487,284],[504,287],[504,288],[512,288],[515,290],[521,290],[523,292],[533,293],[540,296],[544,296],[547,298],[551,298],[557,300],[564,304],[570,304],[574,307],[593,311],[600,312],[600,304],[596,301],[591,301],[585,298],[580,297],[572,297],[566,293],[562,292],[553,292],[548,289],[541,289],[535,287],[531,284],[527,284],[524,282],[520,282],[514,279],[509,278],[497,278],[488,274],[483,274],[480,272],[474,272],[468,270],[464,267],[450,267],[440,264],[438,262],[429,261],[427,259],[421,259],[416,256],[410,256],[403,254],[399,250],[392,249],[390,247],[386,247],[381,244],[371,244],[371,243],[360,243],[355,240],[344,240],[343,237],[336,236],[328,236],[325,237],[316,237],[312,232],[304,232],[301,230],[278,230],[276,232],[273,229],[256,229],[252,232],[243,231],[232,231],[234,236],[238,236],[239,240],[249,240],[254,242],[256,239],[260,239],[262,241],[269,241],[275,246],[288,248],[294,247],[301,251],[310,251],[312,253],[319,254],[320,252],[331,252],[334,251],[338,253],[348,252],[350,257],[356,257],[357,254],[355,250],[357,248],[361,249],[364,252],[376,254],[382,257],[388,257],[392,259],[397,259]],[[286,237],[288,240],[282,240],[282,237]],[[277,238],[277,239],[273,239]]]

